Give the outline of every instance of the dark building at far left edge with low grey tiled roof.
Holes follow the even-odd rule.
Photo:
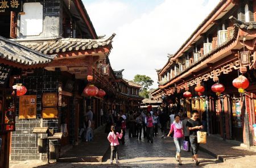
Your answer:
[[[42,69],[53,57],[0,36],[0,167],[9,167],[11,133],[16,130],[14,81],[28,69]]]

